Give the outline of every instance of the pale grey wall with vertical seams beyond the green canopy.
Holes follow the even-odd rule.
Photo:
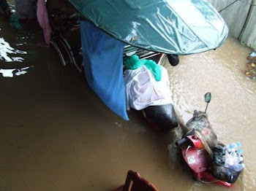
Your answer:
[[[220,11],[236,0],[207,1]],[[236,3],[220,12],[220,15],[226,21],[231,36],[256,50],[256,7],[250,4],[256,4],[256,0],[236,1]]]

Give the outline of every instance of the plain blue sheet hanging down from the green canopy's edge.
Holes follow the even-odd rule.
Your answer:
[[[80,21],[80,31],[89,86],[113,112],[129,120],[123,79],[124,42],[87,21]]]

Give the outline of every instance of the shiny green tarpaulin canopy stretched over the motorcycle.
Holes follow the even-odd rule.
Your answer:
[[[187,55],[219,47],[228,28],[205,0],[69,0],[118,40],[155,52]]]

